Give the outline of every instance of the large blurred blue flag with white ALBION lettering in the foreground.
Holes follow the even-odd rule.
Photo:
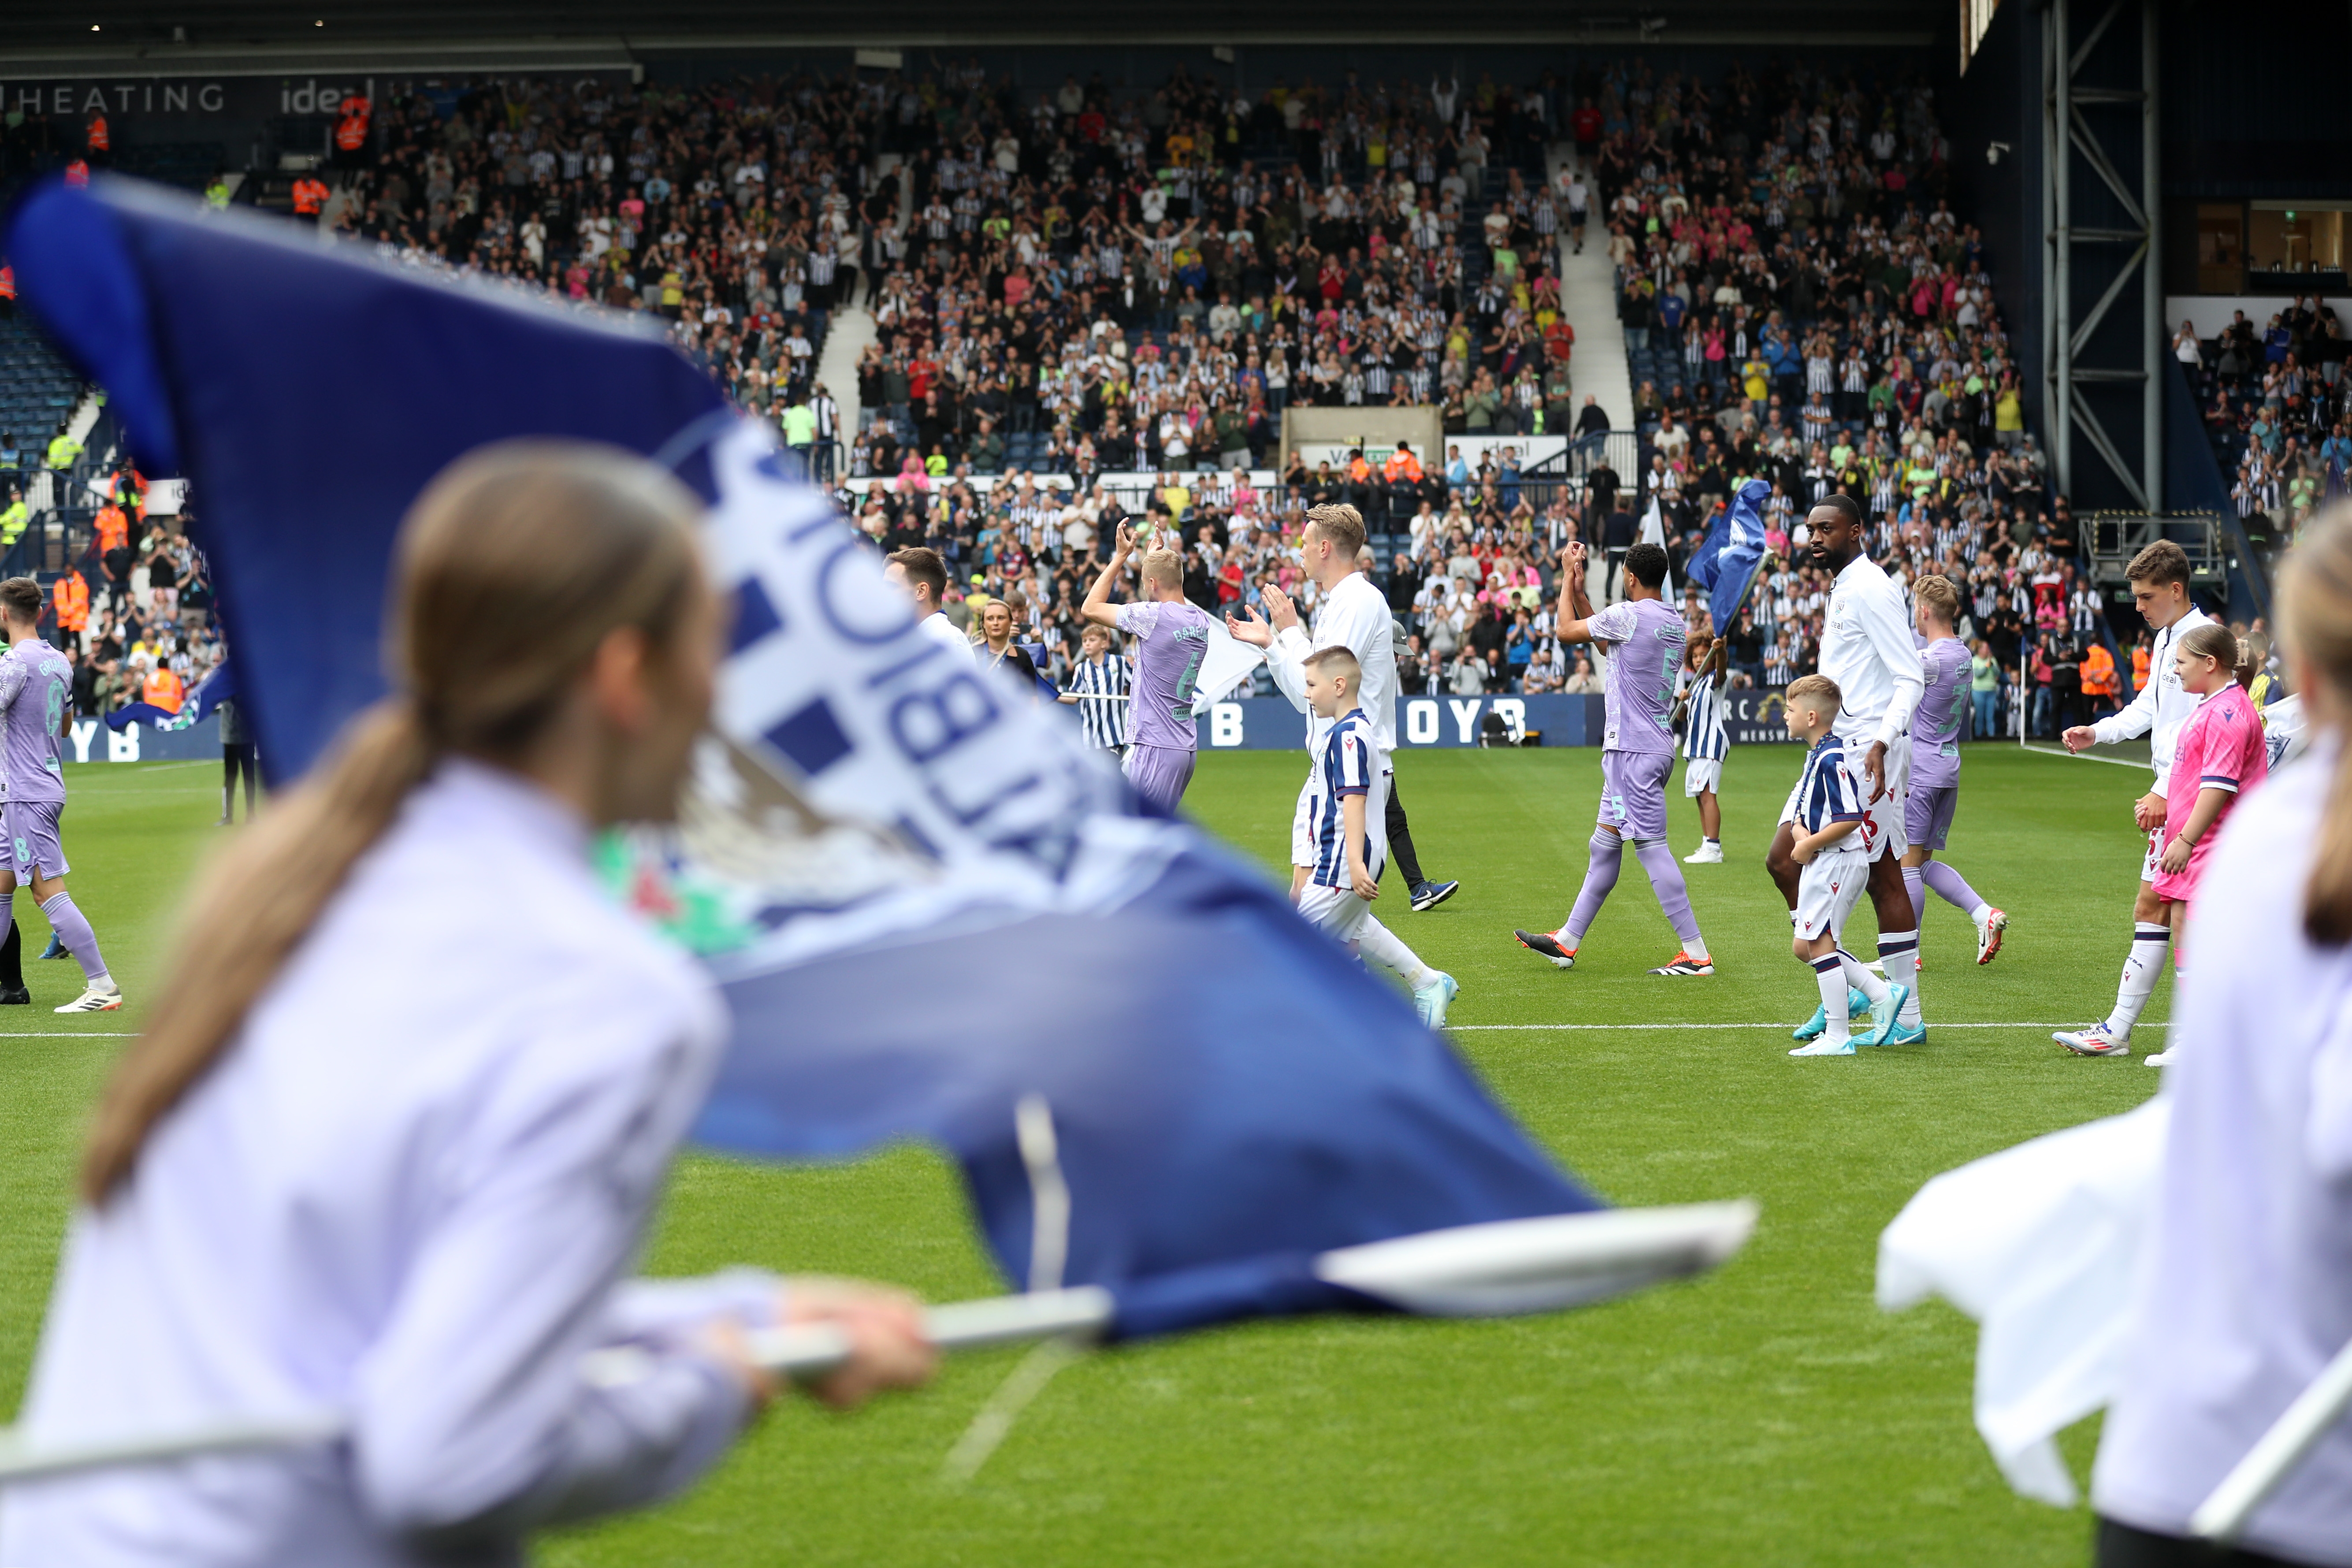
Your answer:
[[[193,480],[278,776],[383,689],[393,534],[459,454],[583,437],[703,494],[734,595],[717,733],[682,830],[612,849],[734,1006],[703,1143],[938,1140],[1007,1274],[1105,1286],[1115,1335],[1562,1307],[1745,1239],[1745,1204],[1590,1213],[1261,872],[920,635],[774,433],[659,336],[103,179],[38,190],[9,249],[134,449]]]

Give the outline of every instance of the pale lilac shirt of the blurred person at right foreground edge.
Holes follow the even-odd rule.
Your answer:
[[[2098,1509],[2143,1530],[2185,1535],[2352,1342],[2352,952],[2303,933],[2336,752],[2239,802],[2190,905],[2154,1234],[2091,1476]],[[2336,1422],[2239,1544],[2352,1568],[2347,1500]]]

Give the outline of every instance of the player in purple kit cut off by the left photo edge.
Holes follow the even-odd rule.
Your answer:
[[[59,1013],[111,1013],[122,1006],[122,987],[106,973],[99,938],[66,891],[66,851],[56,842],[56,818],[66,809],[66,778],[54,736],[73,696],[73,665],[40,639],[40,585],[33,578],[0,583],[0,759],[7,766],[7,804],[0,823],[9,844],[9,896],[31,884],[40,912],[82,966],[82,994]]]

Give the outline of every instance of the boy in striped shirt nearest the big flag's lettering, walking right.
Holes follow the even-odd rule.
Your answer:
[[[1355,654],[1341,646],[1315,649],[1301,668],[1308,710],[1317,719],[1329,719],[1329,726],[1315,741],[1315,762],[1308,769],[1305,823],[1312,858],[1291,870],[1291,900],[1312,924],[1357,952],[1371,924],[1371,900],[1381,896],[1381,867],[1388,863],[1388,825],[1381,811],[1388,804],[1388,752],[1357,696],[1364,670]],[[1423,1020],[1432,1030],[1444,1027],[1454,978],[1432,971],[1411,950],[1402,957],[1411,964],[1399,973],[1414,985],[1416,1006],[1423,990],[1444,992],[1435,1018],[1423,1006]],[[1392,964],[1385,952],[1381,961]]]

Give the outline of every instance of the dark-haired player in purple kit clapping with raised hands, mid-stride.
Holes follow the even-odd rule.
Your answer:
[[[1661,597],[1665,550],[1639,543],[1625,552],[1625,599],[1592,614],[1585,597],[1585,548],[1562,552],[1559,642],[1590,642],[1602,656],[1609,726],[1602,736],[1602,811],[1592,830],[1592,865],[1559,931],[1512,931],[1522,947],[1559,969],[1576,969],[1576,945],[1616,886],[1625,839],[1649,872],[1649,886],[1682,938],[1682,952],[1653,976],[1712,976],[1715,959],[1698,936],[1691,891],[1665,842],[1665,780],[1675,771],[1675,677],[1682,675],[1682,616]]]

